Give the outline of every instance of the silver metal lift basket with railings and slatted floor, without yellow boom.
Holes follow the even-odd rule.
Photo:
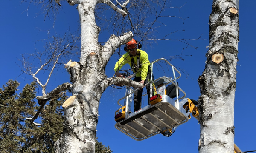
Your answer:
[[[185,109],[182,107],[187,102],[187,99],[185,98],[186,93],[177,85],[176,82],[176,80],[181,76],[180,72],[166,59],[157,59],[151,63],[151,78],[153,64],[160,60],[164,60],[167,64],[171,65],[174,77],[174,79],[160,77],[154,81],[151,80],[148,82],[155,83],[156,85],[159,84],[159,82],[162,84],[160,88],[157,88],[157,94],[161,94],[162,96],[161,102],[154,105],[147,105],[136,112],[129,113],[131,112],[129,109],[133,97],[132,94],[137,90],[133,91],[130,87],[127,87],[126,96],[118,100],[118,104],[122,106],[119,101],[125,99],[126,107],[122,106],[122,108],[125,108],[123,110],[123,112],[125,111],[125,118],[120,122],[117,122],[115,127],[134,140],[141,141],[165,131],[170,131],[167,134],[167,136],[170,136],[177,126],[189,120],[188,116],[190,112],[186,113]],[[179,74],[178,77],[175,77],[175,71]],[[176,100],[165,94],[166,85],[169,83],[172,83],[172,85],[175,85],[176,87]],[[184,96],[179,98],[178,91],[181,91]],[[181,101],[179,102],[179,100]]]

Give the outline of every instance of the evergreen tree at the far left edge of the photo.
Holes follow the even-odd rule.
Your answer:
[[[0,150],[17,153],[26,143],[24,122],[35,110],[35,82],[26,85],[18,95],[19,83],[9,80],[0,88]]]

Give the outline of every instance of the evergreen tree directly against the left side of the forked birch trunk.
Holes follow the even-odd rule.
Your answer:
[[[40,114],[41,126],[29,125],[26,121],[25,136],[27,143],[23,146],[24,153],[54,153],[54,143],[59,139],[63,131],[64,117],[61,109],[66,99],[66,93],[62,92],[52,98],[49,105],[45,106]]]

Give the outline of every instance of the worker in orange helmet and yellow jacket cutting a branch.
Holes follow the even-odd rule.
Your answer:
[[[131,41],[125,44],[124,50],[127,51],[115,65],[115,72],[116,77],[122,77],[119,70],[122,68],[123,65],[129,64],[132,68],[133,72],[136,73],[134,77],[134,81],[140,82],[143,85],[148,83],[151,80],[151,68],[150,62],[148,60],[148,54],[140,50],[142,45],[137,40],[132,39]],[[139,61],[139,63],[138,63]],[[137,64],[138,63],[138,64]],[[154,76],[152,78],[154,80]],[[147,94],[148,94],[148,104],[150,98],[150,83],[146,85]],[[142,91],[143,88],[134,92],[134,112],[141,109],[141,99],[142,99]]]

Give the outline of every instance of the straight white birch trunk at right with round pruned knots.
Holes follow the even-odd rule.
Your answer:
[[[213,0],[209,51],[198,78],[201,96],[199,153],[234,152],[234,98],[238,61],[239,0]]]

